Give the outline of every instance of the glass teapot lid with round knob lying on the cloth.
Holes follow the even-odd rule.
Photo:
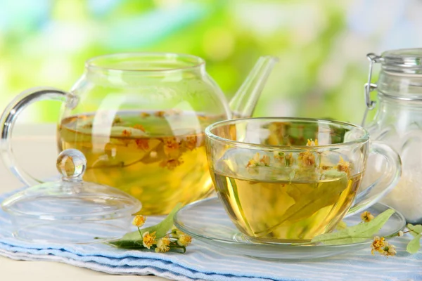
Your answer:
[[[1,204],[15,237],[31,242],[104,242],[127,233],[141,203],[127,193],[82,180],[87,159],[79,150],[58,155],[60,181],[17,192]]]

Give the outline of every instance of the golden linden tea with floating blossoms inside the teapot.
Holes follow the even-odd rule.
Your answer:
[[[151,214],[166,214],[175,202],[193,202],[212,191],[204,135],[188,127],[197,117],[201,127],[224,117],[174,110],[117,112],[106,135],[93,130],[94,117],[68,117],[58,127],[60,150],[75,148],[87,157],[87,181],[118,186]]]

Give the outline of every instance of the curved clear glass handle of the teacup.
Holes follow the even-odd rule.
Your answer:
[[[385,159],[383,176],[370,183],[368,188],[359,191],[354,200],[354,205],[347,212],[346,216],[364,211],[381,200],[382,197],[397,185],[402,175],[402,160],[395,150],[379,141],[372,141],[370,145],[368,159],[373,155],[381,155]],[[370,176],[368,172],[368,169],[366,169],[366,176]]]

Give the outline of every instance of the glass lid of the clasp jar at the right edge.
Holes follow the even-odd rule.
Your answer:
[[[422,48],[385,51],[381,55],[381,63],[388,71],[422,74]]]

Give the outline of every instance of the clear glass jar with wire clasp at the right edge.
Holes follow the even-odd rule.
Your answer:
[[[379,105],[366,129],[371,139],[387,143],[402,159],[402,177],[382,202],[400,211],[409,223],[422,223],[422,48],[367,56],[366,113],[376,105],[370,97],[375,89]],[[381,72],[378,82],[371,84],[374,63],[381,63]]]

